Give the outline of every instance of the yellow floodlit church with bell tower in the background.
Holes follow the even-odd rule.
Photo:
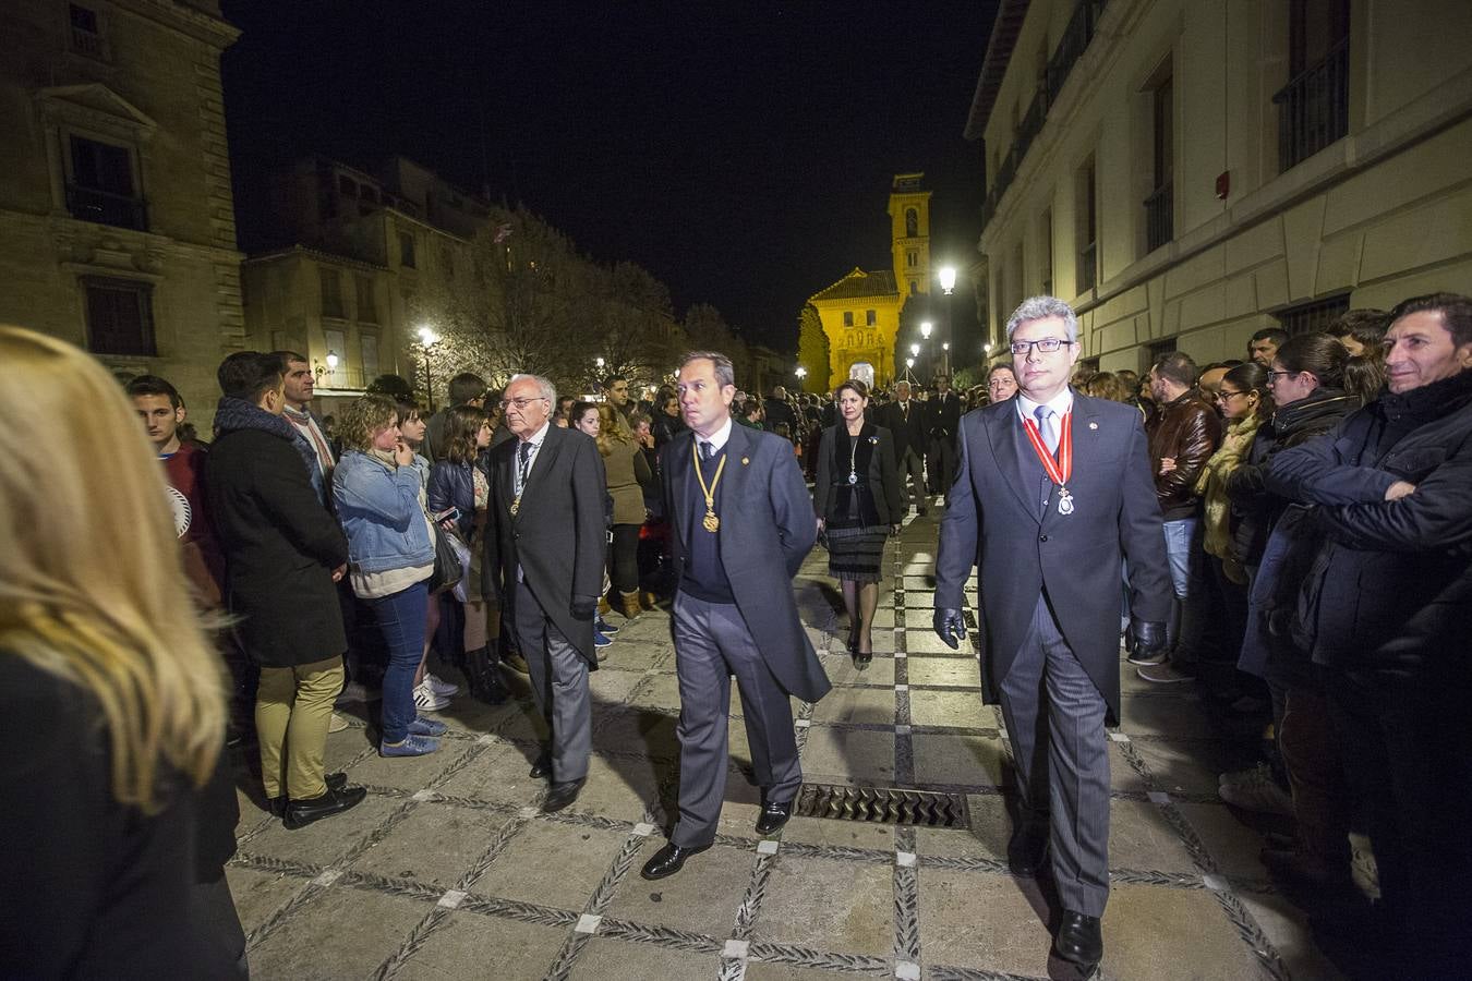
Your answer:
[[[818,312],[829,341],[832,390],[848,378],[889,385],[904,375],[895,363],[899,312],[911,296],[929,293],[930,282],[930,191],[921,188],[923,174],[896,174],[889,191],[889,240],[892,266],[846,277],[808,297]]]

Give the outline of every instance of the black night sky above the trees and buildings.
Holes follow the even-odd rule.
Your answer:
[[[982,150],[961,129],[995,0],[224,12],[244,31],[224,57],[237,188],[308,153],[402,153],[526,203],[598,260],[643,265],[677,315],[714,303],[786,350],[810,294],[889,268],[894,174],[935,191],[933,265],[976,249]]]

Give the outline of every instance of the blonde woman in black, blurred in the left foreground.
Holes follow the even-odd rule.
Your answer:
[[[224,666],[122,388],[0,327],[0,965],[244,977]]]

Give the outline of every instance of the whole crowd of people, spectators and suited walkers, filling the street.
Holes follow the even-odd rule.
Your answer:
[[[1007,346],[960,394],[938,378],[748,397],[729,359],[698,352],[643,399],[623,377],[583,402],[462,372],[431,415],[387,375],[331,421],[302,354],[240,352],[206,444],[166,379],[119,391],[81,352],[0,328],[25,366],[0,394],[9,431],[59,447],[12,454],[0,481],[0,718],[31,747],[6,759],[24,806],[3,828],[26,856],[7,882],[35,884],[7,902],[50,903],[44,943],[7,915],[0,946],[41,975],[118,957],[243,975],[222,747],[253,744],[263,806],[303,828],[367,794],[325,772],[340,713],[377,702],[381,756],[434,753],[433,713],[462,694],[450,668],[498,704],[505,672],[527,677],[549,732],[542,809],[570,806],[589,674],[657,603],[677,649],[680,806],[642,875],[714,841],[733,677],[755,830],[773,834],[802,780],[790,697],[829,690],[792,577],[824,541],[866,668],[886,540],[944,496],[935,629],[964,638],[979,569],[983,700],[1017,769],[1007,857],[1051,871],[1058,956],[1103,956],[1123,638],[1144,684],[1195,685],[1266,735],[1247,740],[1262,763],[1219,788],[1291,819],[1264,866],[1319,899],[1375,899],[1366,922],[1394,963],[1451,977],[1472,874],[1472,300],[1266,328],[1241,360],[1173,352],[1139,378],[1080,369],[1073,310],[1032,297]],[[131,899],[109,869],[141,882]]]

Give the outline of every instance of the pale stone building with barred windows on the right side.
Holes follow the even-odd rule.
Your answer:
[[[1469,46],[1460,0],[1002,0],[966,129],[991,341],[1035,293],[1142,369],[1466,291]]]

